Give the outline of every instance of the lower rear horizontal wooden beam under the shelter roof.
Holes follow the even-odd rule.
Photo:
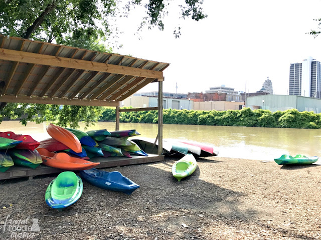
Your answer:
[[[119,106],[118,101],[108,100],[79,100],[70,98],[57,97],[39,97],[39,96],[13,96],[2,95],[0,102],[23,102],[23,103],[39,103],[39,104],[61,104],[61,105],[80,105],[80,106]]]

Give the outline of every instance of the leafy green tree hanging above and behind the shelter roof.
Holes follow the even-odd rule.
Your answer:
[[[110,17],[126,16],[135,6],[144,6],[147,16],[141,25],[163,30],[163,17],[170,1],[129,0],[122,6],[121,0],[0,0],[0,31],[10,36],[112,52],[104,43],[117,31],[117,27],[111,26]],[[185,4],[180,5],[182,17],[197,21],[205,18],[202,4],[203,0],[185,0]],[[179,37],[180,31],[174,33]],[[88,126],[99,119],[101,111],[101,107],[92,106],[64,106],[60,110],[57,105],[50,104],[0,102],[0,123],[5,117],[20,117],[23,124],[27,124],[27,120],[58,120],[57,124],[76,127],[78,121],[84,120]]]

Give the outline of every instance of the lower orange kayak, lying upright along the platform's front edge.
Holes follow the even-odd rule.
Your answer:
[[[77,157],[72,157],[65,152],[50,152],[45,148],[37,148],[41,155],[43,164],[66,170],[86,170],[100,162],[91,162]]]

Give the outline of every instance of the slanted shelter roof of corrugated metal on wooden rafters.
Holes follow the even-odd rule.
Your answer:
[[[0,34],[0,102],[119,106],[168,66]]]

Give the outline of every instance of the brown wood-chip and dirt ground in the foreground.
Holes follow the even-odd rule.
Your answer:
[[[63,211],[44,200],[55,174],[0,181],[0,239],[321,238],[321,165],[214,156],[178,182],[175,160],[106,168],[140,188],[126,195],[84,181]]]

